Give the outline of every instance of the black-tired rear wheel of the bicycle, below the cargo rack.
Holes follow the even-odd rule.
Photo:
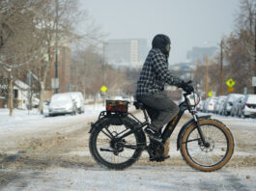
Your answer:
[[[134,131],[122,140],[118,138],[133,129],[134,121],[124,118],[116,123],[116,119],[105,119],[91,133],[89,147],[95,160],[109,169],[123,170],[131,166],[140,157],[143,143],[139,132]],[[145,135],[144,135],[145,136]]]

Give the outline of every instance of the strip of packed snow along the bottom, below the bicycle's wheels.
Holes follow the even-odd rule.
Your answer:
[[[249,191],[256,187],[255,170],[252,169],[202,173],[188,167],[135,165],[126,171],[109,171],[100,167],[55,168],[37,172],[17,170],[15,176],[16,181],[10,182],[3,190]]]

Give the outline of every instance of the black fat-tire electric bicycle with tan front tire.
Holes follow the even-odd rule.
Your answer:
[[[188,110],[192,119],[183,125],[177,137],[177,150],[181,151],[185,162],[203,172],[212,172],[226,165],[235,147],[231,131],[224,123],[211,119],[210,115],[197,115],[195,108],[200,99],[195,92],[185,93],[184,97],[179,113],[161,133],[161,142],[151,138],[147,142],[143,129],[149,124],[149,116],[143,103],[134,101],[133,104],[143,111],[145,122],[140,122],[128,112],[102,111],[89,131],[89,148],[94,159],[108,169],[124,170],[139,159],[142,151],[147,150],[151,161],[164,161],[168,158],[168,150],[164,146],[169,144],[177,123]]]

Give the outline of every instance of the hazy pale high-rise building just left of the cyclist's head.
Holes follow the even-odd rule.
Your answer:
[[[140,68],[146,59],[148,46],[144,39],[110,40],[104,43],[103,50],[109,65]]]

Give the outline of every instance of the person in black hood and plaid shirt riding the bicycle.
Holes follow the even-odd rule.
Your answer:
[[[166,35],[158,34],[150,50],[137,82],[136,99],[147,106],[152,123],[145,132],[156,141],[161,141],[160,130],[179,112],[179,107],[164,93],[165,83],[192,92],[193,87],[174,76],[168,69],[171,41]]]

